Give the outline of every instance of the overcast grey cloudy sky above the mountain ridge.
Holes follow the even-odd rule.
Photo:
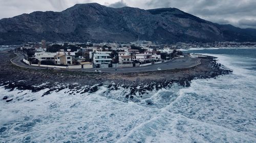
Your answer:
[[[256,28],[256,0],[0,0],[0,19],[33,11],[62,11],[78,3],[114,8],[172,7],[212,22]]]

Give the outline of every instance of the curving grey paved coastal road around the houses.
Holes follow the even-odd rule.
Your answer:
[[[32,69],[46,69],[42,67],[34,67],[29,66],[23,62],[21,62],[24,59],[24,55],[21,53],[16,53],[17,57],[13,58],[11,61],[13,64],[24,67],[24,68],[32,68]],[[194,59],[190,58],[189,55],[185,55],[185,58],[182,59],[175,59],[171,60],[166,63],[162,64],[156,64],[156,65],[150,65],[145,67],[133,67],[133,68],[109,68],[109,69],[99,69],[102,72],[108,72],[108,73],[131,73],[131,72],[147,72],[147,71],[157,71],[157,68],[160,68],[161,70],[170,70],[170,69],[182,69],[182,68],[190,68],[197,65],[200,65],[200,59]],[[70,70],[70,69],[69,69]],[[95,72],[95,69],[74,69],[71,71],[86,71],[86,72]]]

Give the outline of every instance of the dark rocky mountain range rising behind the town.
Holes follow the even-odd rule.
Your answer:
[[[142,10],[77,4],[0,20],[0,44],[47,41],[256,41],[256,30],[221,25],[176,8]]]

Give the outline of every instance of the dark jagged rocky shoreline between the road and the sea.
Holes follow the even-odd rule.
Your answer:
[[[14,56],[12,51],[0,51],[0,85],[10,91],[16,88],[34,93],[49,89],[42,97],[63,89],[69,89],[68,94],[91,94],[104,86],[107,92],[123,89],[126,91],[125,101],[136,101],[149,91],[167,88],[174,83],[189,87],[193,79],[215,78],[232,72],[221,68],[222,65],[211,56],[201,59],[201,65],[193,68],[122,74],[20,68],[11,64],[10,59]],[[8,97],[3,100],[12,101]]]

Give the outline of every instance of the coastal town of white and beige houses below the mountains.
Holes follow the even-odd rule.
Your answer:
[[[100,69],[132,68],[157,65],[185,58],[183,49],[250,47],[256,43],[214,42],[156,44],[151,41],[131,43],[78,43],[78,42],[30,42],[15,47],[23,56],[22,62],[29,66],[54,69]],[[205,58],[190,54],[190,58]],[[97,70],[98,69],[98,70]],[[161,70],[156,68],[155,70]]]

